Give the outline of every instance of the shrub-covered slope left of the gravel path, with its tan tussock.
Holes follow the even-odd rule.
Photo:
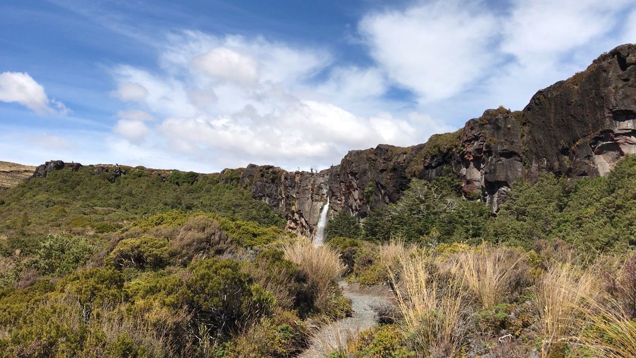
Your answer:
[[[296,236],[231,173],[120,169],[0,194],[0,357],[287,357],[302,319],[349,312],[337,255],[286,255]]]

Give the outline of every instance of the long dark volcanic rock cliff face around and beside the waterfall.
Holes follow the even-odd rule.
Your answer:
[[[338,166],[319,173],[253,164],[232,172],[287,219],[288,229],[307,235],[314,234],[327,197],[331,211],[363,218],[395,203],[411,179],[433,180],[448,172],[461,180],[467,199],[481,199],[496,213],[516,178],[532,181],[544,171],[595,177],[636,154],[635,65],[636,45],[614,48],[585,71],[537,92],[522,111],[487,110],[459,131],[413,147],[352,150]],[[46,162],[33,176],[65,166],[79,168]]]

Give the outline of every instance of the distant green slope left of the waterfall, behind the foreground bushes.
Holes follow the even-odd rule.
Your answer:
[[[238,182],[191,172],[127,168],[124,175],[114,176],[96,175],[90,166],[76,172],[66,168],[4,190],[0,196],[6,202],[0,206],[0,229],[26,233],[48,233],[60,224],[108,233],[123,221],[169,210],[207,211],[230,220],[284,225]]]

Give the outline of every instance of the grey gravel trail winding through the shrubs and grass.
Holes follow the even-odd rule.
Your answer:
[[[386,286],[372,286],[361,289],[357,283],[346,281],[338,283],[342,294],[351,299],[354,310],[353,317],[338,320],[321,327],[312,339],[312,345],[299,355],[299,358],[322,358],[335,347],[343,347],[347,336],[373,327],[378,322],[377,313],[373,308],[380,304],[392,304],[391,290]]]

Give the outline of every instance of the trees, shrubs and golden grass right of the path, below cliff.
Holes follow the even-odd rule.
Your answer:
[[[517,182],[496,217],[449,177],[361,223],[340,213],[348,279],[390,285],[397,309],[331,357],[635,356],[635,171]]]

